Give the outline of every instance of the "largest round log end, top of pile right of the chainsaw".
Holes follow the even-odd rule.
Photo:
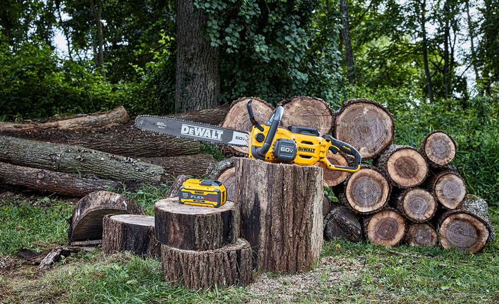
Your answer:
[[[350,99],[336,115],[334,137],[352,145],[363,160],[385,150],[395,134],[393,116],[380,103],[369,99]]]

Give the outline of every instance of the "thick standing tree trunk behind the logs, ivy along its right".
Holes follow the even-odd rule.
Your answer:
[[[203,36],[205,21],[191,0],[177,1],[176,111],[201,110],[219,103],[219,48]]]

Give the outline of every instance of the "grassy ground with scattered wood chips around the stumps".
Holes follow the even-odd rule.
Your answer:
[[[128,193],[148,214],[164,190]],[[0,258],[17,249],[66,244],[73,204],[50,198],[0,199]],[[499,208],[491,207],[499,227]],[[395,251],[395,252],[391,252]],[[0,270],[0,303],[498,303],[499,245],[470,255],[437,247],[386,248],[325,242],[309,274],[254,274],[255,283],[216,291],[170,287],[156,259],[104,256],[99,249],[64,257],[48,270],[15,258]]]

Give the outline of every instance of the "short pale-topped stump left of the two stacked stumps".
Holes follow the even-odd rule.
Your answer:
[[[106,215],[102,220],[102,252],[131,251],[156,257],[159,244],[154,238],[154,216],[136,214]]]

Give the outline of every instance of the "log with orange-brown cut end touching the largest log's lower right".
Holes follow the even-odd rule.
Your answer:
[[[426,159],[409,146],[391,145],[379,155],[375,165],[399,188],[416,187],[428,174]]]

